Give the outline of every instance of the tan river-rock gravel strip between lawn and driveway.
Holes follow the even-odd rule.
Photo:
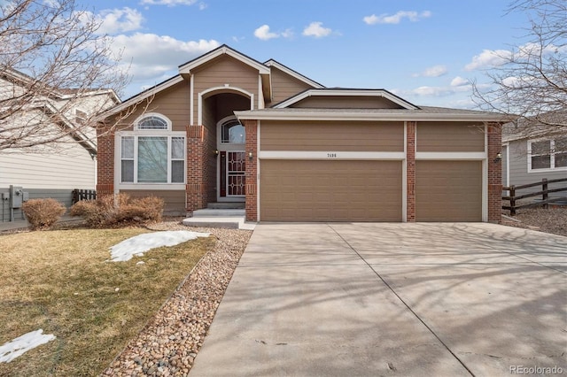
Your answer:
[[[178,219],[150,226],[152,230],[194,230],[217,237],[214,250],[198,265],[105,370],[105,376],[183,376],[189,373],[203,345],[224,291],[252,231],[185,227]]]

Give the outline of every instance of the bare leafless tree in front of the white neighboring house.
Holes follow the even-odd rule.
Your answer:
[[[100,27],[75,0],[0,1],[0,151],[95,148],[94,116],[128,84]]]

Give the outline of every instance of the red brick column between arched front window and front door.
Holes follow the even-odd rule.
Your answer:
[[[187,212],[206,207],[206,128],[203,126],[187,126]]]

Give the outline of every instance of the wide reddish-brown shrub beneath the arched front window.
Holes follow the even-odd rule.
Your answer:
[[[116,197],[116,203],[114,203]],[[71,216],[82,216],[89,227],[120,227],[160,221],[163,199],[155,196],[102,196],[74,204]]]

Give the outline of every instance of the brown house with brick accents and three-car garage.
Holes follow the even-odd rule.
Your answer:
[[[160,196],[168,213],[244,202],[249,221],[501,219],[499,115],[325,88],[226,45],[99,119],[98,194]]]

